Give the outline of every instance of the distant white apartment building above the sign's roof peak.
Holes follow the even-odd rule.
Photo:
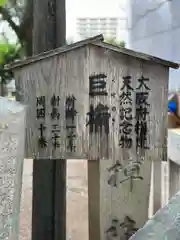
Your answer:
[[[81,39],[101,33],[105,38],[118,39],[119,22],[117,17],[77,18],[77,34]]]

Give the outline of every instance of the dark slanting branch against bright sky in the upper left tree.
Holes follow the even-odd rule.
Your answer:
[[[14,30],[20,42],[22,41],[22,35],[19,26],[12,20],[8,10],[0,6],[0,14],[2,14],[3,20],[7,21],[10,27]]]

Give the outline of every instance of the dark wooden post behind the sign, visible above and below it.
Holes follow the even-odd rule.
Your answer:
[[[33,53],[64,45],[65,0],[34,0],[33,7]],[[66,239],[66,160],[34,160],[32,214],[32,240]]]

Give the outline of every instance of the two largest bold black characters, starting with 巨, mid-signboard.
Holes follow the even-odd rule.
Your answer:
[[[93,74],[89,77],[89,96],[93,99],[94,97],[107,96],[106,90],[106,78],[104,73]],[[89,132],[109,134],[109,119],[110,119],[109,107],[99,101],[94,106],[90,104],[89,112],[87,113],[88,121],[86,126],[89,125]]]

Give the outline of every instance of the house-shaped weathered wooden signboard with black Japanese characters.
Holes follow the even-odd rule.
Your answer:
[[[123,164],[157,145],[163,151],[167,82],[159,92],[159,79],[177,66],[158,59],[154,73],[157,64],[144,60],[94,38],[15,63],[17,93],[29,108],[26,157]]]

